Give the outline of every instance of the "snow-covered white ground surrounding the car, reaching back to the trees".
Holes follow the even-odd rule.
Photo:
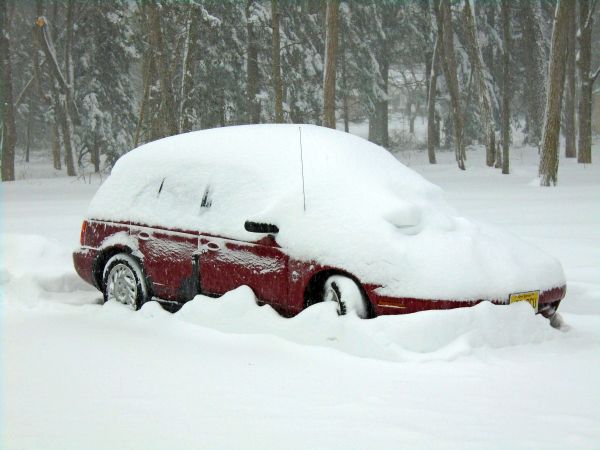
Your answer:
[[[398,154],[457,210],[560,259],[563,330],[524,304],[282,319],[246,288],[176,314],[102,306],[70,255],[99,181],[21,165],[0,186],[0,447],[600,447],[600,164],[563,159],[540,188],[533,149],[510,176],[467,156],[460,172],[451,153]]]

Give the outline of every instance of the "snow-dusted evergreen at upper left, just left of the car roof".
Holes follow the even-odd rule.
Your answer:
[[[130,73],[138,54],[130,42],[133,31],[126,1],[89,2],[82,8],[75,48],[79,62],[75,95],[82,125],[76,131],[80,155],[89,153],[98,172],[101,155],[112,166],[132,146],[135,100]]]

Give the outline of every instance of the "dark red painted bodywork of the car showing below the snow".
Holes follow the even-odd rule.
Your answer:
[[[103,289],[103,264],[110,256],[126,252],[140,261],[153,297],[184,303],[197,294],[220,296],[247,285],[260,303],[286,317],[319,300],[320,286],[314,284],[319,274],[352,277],[343,268],[290,258],[270,235],[244,242],[192,231],[87,220],[82,225],[81,243],[73,254],[75,269],[98,289]],[[482,301],[390,297],[377,293],[380,286],[355,281],[362,286],[375,316],[469,307]],[[539,311],[556,311],[565,292],[565,286],[541,292]],[[508,303],[508,299],[491,301]]]

